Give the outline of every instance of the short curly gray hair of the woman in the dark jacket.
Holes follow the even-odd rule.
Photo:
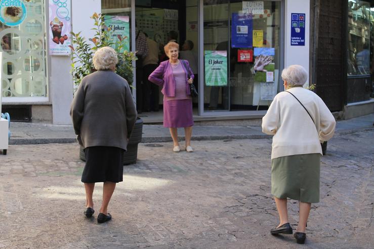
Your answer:
[[[96,70],[112,69],[117,63],[117,53],[110,46],[104,46],[95,52],[94,66]]]

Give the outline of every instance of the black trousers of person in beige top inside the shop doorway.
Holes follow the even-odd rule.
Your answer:
[[[158,111],[158,85],[148,80],[149,75],[158,67],[157,64],[148,64],[143,67],[143,111]]]

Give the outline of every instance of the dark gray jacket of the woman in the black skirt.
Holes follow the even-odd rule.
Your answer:
[[[99,70],[84,77],[70,116],[83,147],[113,146],[126,151],[137,118],[128,82],[113,71]]]

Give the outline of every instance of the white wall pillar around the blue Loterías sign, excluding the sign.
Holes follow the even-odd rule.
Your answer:
[[[284,67],[298,64],[309,72],[310,1],[285,0],[284,7]],[[305,46],[291,46],[291,13],[305,13]]]

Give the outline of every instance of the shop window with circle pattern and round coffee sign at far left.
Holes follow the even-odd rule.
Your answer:
[[[10,1],[15,3],[17,1]],[[44,0],[0,9],[4,97],[48,96]]]

